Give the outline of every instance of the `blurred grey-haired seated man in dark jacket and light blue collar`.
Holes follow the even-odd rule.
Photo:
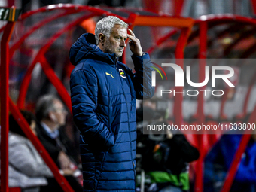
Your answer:
[[[38,99],[35,106],[38,120],[36,132],[38,139],[50,154],[56,166],[60,169],[75,191],[82,191],[77,178],[81,177],[79,154],[61,126],[66,124],[68,112],[60,99],[53,95],[44,95]],[[41,187],[42,191],[62,191],[54,178],[47,178],[48,185]]]

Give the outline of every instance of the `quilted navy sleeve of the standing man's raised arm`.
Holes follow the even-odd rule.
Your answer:
[[[152,62],[145,53],[143,56],[132,56],[134,69],[133,86],[136,90],[136,99],[150,99],[154,96],[154,87],[151,85]]]

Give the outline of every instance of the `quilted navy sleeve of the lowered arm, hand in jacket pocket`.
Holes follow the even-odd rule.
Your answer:
[[[114,145],[114,135],[96,114],[98,85],[92,71],[79,69],[72,72],[70,90],[73,118],[86,142],[108,151]]]

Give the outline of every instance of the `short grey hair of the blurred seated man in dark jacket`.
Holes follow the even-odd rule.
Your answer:
[[[38,121],[49,118],[50,111],[55,110],[54,101],[59,100],[53,95],[44,95],[38,99],[35,105],[35,116]]]

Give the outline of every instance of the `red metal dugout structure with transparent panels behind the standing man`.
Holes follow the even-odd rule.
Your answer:
[[[13,8],[15,10],[15,8]],[[184,17],[172,17],[169,15],[146,11],[141,8],[102,8],[82,5],[49,5],[22,14],[17,21],[8,20],[2,23],[1,32],[1,190],[8,191],[8,113],[20,123],[26,136],[32,141],[44,161],[50,167],[64,191],[72,191],[65,178],[59,174],[59,170],[51,160],[47,151],[41,145],[29,125],[20,114],[19,109],[30,109],[35,106],[35,100],[47,91],[55,91],[72,113],[69,96],[69,75],[73,66],[69,63],[69,47],[81,35],[81,32],[93,32],[93,26],[101,17],[114,15],[120,17],[129,24],[130,29],[135,30],[136,36],[141,39],[142,48],[152,54],[160,49],[162,44],[174,48],[172,52],[177,64],[183,68],[182,59],[200,58],[206,59],[206,53],[211,48],[211,42],[232,34],[237,30],[239,35],[230,35],[234,41],[225,49],[224,55],[237,47],[239,42],[248,36],[253,42],[250,46],[242,47],[245,53],[240,57],[251,56],[256,50],[254,38],[256,20],[253,18],[239,17],[235,15],[210,15],[200,17],[199,20]],[[225,27],[219,27],[225,26]],[[245,27],[246,26],[246,27]],[[217,30],[217,35],[211,35],[211,30]],[[215,31],[214,31],[215,32]],[[167,43],[166,43],[167,42]],[[189,48],[197,48],[191,55]],[[186,52],[187,51],[187,52]],[[122,60],[128,66],[130,50],[126,49]],[[200,69],[206,66],[206,62],[200,62]],[[42,75],[43,74],[43,75]],[[200,70],[199,81],[203,81],[204,70]],[[255,80],[251,80],[251,87]],[[50,86],[48,86],[50,84]],[[183,87],[175,87],[181,92]],[[250,96],[248,89],[248,97]],[[221,103],[224,105],[226,99]],[[183,96],[174,98],[175,124],[181,126],[184,123],[182,111]],[[245,102],[246,103],[246,102]],[[203,112],[203,94],[197,98],[198,122],[205,121]],[[245,106],[246,111],[247,105]],[[256,110],[251,114],[249,122],[255,122]],[[253,116],[254,115],[254,116]],[[205,135],[197,135],[190,139],[202,146]],[[207,136],[210,139],[214,135]],[[248,143],[250,135],[245,134],[241,145],[236,151],[230,172],[224,184],[223,191],[228,191],[236,173],[242,152]],[[201,154],[205,154],[200,149]],[[197,162],[197,174],[195,191],[203,191],[203,155]]]

